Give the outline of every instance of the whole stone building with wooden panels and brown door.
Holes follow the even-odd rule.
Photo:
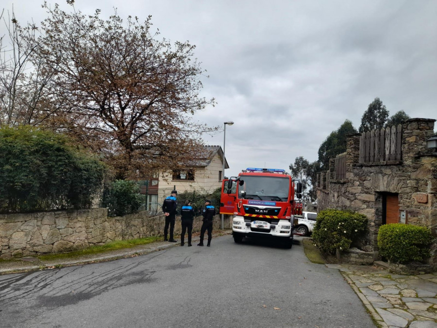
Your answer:
[[[318,173],[317,210],[352,209],[369,219],[360,249],[379,259],[382,224],[427,226],[437,238],[437,155],[426,148],[434,134],[431,119],[410,119],[348,136],[345,154],[330,158],[329,171]],[[437,239],[429,263],[437,269]]]

